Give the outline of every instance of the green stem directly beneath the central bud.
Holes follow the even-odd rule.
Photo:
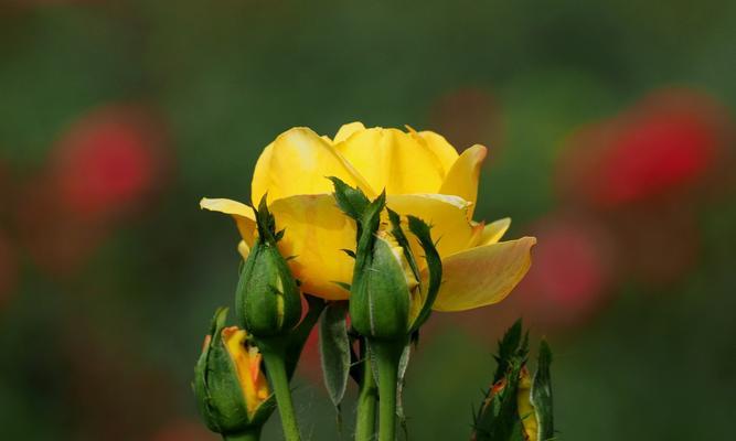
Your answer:
[[[396,439],[396,383],[402,342],[372,341],[378,367],[378,441]]]

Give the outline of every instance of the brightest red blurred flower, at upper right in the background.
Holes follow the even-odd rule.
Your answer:
[[[727,112],[707,95],[654,93],[573,137],[561,162],[563,192],[616,207],[692,189],[714,169],[730,130]]]

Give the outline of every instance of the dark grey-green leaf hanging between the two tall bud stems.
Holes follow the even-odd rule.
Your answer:
[[[346,314],[348,302],[330,302],[324,310],[319,327],[324,387],[338,411],[350,376],[350,337],[345,324]]]

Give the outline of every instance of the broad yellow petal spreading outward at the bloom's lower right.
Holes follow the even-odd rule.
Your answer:
[[[434,309],[465,311],[500,302],[526,275],[534,244],[534,237],[522,237],[442,259],[442,286]]]

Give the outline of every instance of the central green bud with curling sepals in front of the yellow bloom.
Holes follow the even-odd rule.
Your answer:
[[[401,216],[386,208],[385,193],[371,202],[359,189],[337,178],[332,178],[332,182],[338,205],[358,226],[350,286],[352,326],[370,338],[403,341],[427,320],[439,291],[441,262],[429,227],[407,216],[409,230],[425,254],[429,277],[427,283],[422,283]],[[391,229],[382,228],[384,213],[387,213]]]

